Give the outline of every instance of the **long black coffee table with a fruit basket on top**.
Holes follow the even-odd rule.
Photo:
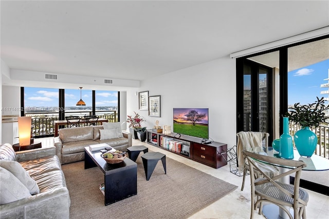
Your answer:
[[[84,148],[84,169],[99,167],[104,173],[104,204],[109,205],[137,194],[137,163],[125,158],[110,164],[101,157],[100,151]],[[95,185],[98,186],[98,185]]]

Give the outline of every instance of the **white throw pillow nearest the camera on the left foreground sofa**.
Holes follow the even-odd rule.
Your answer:
[[[0,167],[0,205],[30,197],[29,190],[11,172]]]

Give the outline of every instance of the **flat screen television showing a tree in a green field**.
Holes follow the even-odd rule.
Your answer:
[[[173,132],[198,138],[209,138],[208,108],[174,108]]]

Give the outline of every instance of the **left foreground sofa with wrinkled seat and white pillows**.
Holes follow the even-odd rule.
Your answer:
[[[0,218],[69,218],[70,197],[56,148],[14,152],[0,145]]]

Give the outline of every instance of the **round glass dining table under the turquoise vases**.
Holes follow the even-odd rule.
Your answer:
[[[250,148],[247,149],[247,151],[261,154],[261,155],[266,155],[266,156],[271,156],[271,157],[277,157],[281,158],[279,156],[279,152],[273,150],[272,147],[268,147],[268,150],[266,151],[266,148],[262,147],[255,147],[255,148]],[[284,159],[284,158],[281,158]],[[329,159],[326,159],[324,157],[321,157],[319,155],[313,154],[311,157],[303,157],[299,155],[298,151],[294,148],[294,158],[293,160],[302,160],[303,162],[306,163],[306,167],[303,168],[303,171],[325,171],[329,170]],[[280,166],[276,165],[270,162],[266,162],[269,165],[277,166],[279,167],[279,173],[286,172],[285,169],[288,169],[289,167],[285,166]],[[281,182],[284,182],[285,184],[290,184],[290,176],[285,176],[280,180]],[[277,205],[274,204],[268,204],[263,206],[263,215],[265,218],[289,218],[289,216],[284,212],[284,210],[280,209]],[[294,211],[290,209],[290,213],[294,215]]]

